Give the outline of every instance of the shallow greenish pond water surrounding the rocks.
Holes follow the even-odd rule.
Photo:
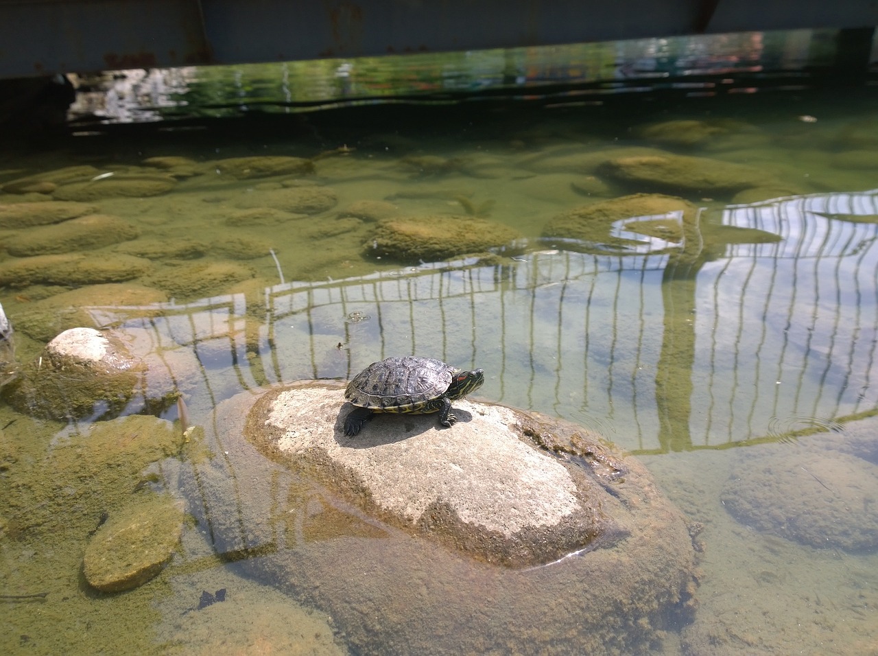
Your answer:
[[[723,129],[698,143],[651,139],[640,129],[678,119]],[[271,554],[220,559],[226,550],[204,522],[187,523],[165,571],[128,593],[92,590],[81,573],[83,550],[102,512],[112,515],[135,487],[167,491],[185,498],[193,515],[210,516],[208,472],[227,463],[210,423],[222,401],[300,378],[350,378],[376,359],[417,353],[485,369],[479,398],[579,422],[636,454],[700,526],[699,606],[689,621],[669,624],[655,652],[874,652],[878,527],[861,527],[867,543],[871,531],[866,547],[790,538],[784,513],[792,510],[772,485],[791,472],[759,469],[769,458],[824,463],[817,471],[793,465],[800,478],[781,494],[801,497],[816,513],[823,501],[844,499],[851,514],[833,517],[829,537],[848,535],[849,523],[860,522],[854,511],[878,498],[874,88],[478,112],[371,107],[204,127],[137,128],[125,141],[79,137],[0,161],[0,183],[81,164],[95,166],[94,177],[142,175],[154,156],[182,155],[200,167],[161,195],[93,201],[140,237],[90,255],[153,260],[148,274],[124,283],[138,285],[124,307],[88,285],[75,298],[62,296],[70,293],[65,285],[11,285],[2,302],[21,362],[39,357],[68,321],[127,331],[139,348],[162,353],[189,423],[208,434],[167,458],[119,443],[105,463],[92,456],[93,469],[69,472],[65,450],[76,448],[88,422],[66,426],[0,407],[0,486],[9,500],[0,594],[46,593],[0,600],[4,651],[356,651],[345,637],[354,627],[331,624],[332,609],[309,592],[336,581],[309,576],[276,589],[258,577],[260,559]],[[561,213],[642,191],[594,169],[595,152],[629,146],[745,163],[797,192],[745,202],[730,191],[680,190],[675,195],[700,208],[696,220],[661,216],[657,232],[631,217],[601,227],[599,240],[543,236]],[[315,170],[237,180],[211,163],[243,155],[316,158]],[[584,194],[595,177],[606,186]],[[253,198],[291,180],[330,189],[336,204],[241,226],[241,212],[261,206]],[[3,194],[0,203],[24,198]],[[378,258],[374,224],[339,216],[363,200],[391,202],[403,216],[484,215],[520,239],[493,256],[441,263]],[[4,241],[25,231],[4,230]],[[15,260],[4,254],[0,265]],[[205,263],[245,273],[196,284],[187,276]],[[65,298],[79,314],[65,312]],[[141,406],[133,400],[129,410]],[[176,406],[160,412],[177,419]],[[837,475],[836,465],[851,463],[853,473]],[[251,466],[280,476],[268,461]],[[752,502],[767,519],[741,522],[727,507],[729,479],[752,470],[765,484],[753,486]],[[243,481],[232,474],[226,490],[234,496]],[[195,507],[199,494],[204,508]],[[301,512],[290,530],[304,554],[355,539],[362,541],[351,542],[356,565],[356,544],[382,549],[385,535],[350,520],[349,508],[338,511],[346,518],[338,522],[352,523],[340,534],[333,522],[328,535],[309,533],[306,509],[332,508],[321,499],[303,492],[284,501]],[[461,580],[478,578],[479,567],[453,566]],[[219,589],[226,601],[198,609],[203,592]],[[381,617],[369,628],[380,634]],[[430,638],[442,652],[446,638]],[[387,639],[388,652],[406,651]],[[572,638],[551,644],[579,651]],[[482,646],[533,649],[500,638]]]

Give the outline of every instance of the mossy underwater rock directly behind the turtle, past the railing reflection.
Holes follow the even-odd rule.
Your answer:
[[[363,249],[369,256],[418,262],[493,249],[515,249],[514,228],[475,217],[407,216],[379,221]]]

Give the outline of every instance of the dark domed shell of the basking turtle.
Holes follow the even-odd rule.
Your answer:
[[[371,410],[416,413],[448,392],[457,371],[431,357],[388,357],[356,374],[344,397]]]

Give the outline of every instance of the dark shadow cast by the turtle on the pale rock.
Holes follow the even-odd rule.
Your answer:
[[[363,429],[356,436],[349,437],[344,434],[344,420],[349,413],[356,410],[356,406],[350,402],[344,403],[338,416],[335,418],[333,436],[340,446],[354,449],[369,449],[380,444],[392,444],[402,442],[409,437],[427,433],[435,429],[437,438],[442,438],[443,431],[454,430],[454,426],[442,426],[439,424],[437,413],[412,414],[412,413],[375,413],[369,421],[363,425]],[[451,413],[457,417],[456,423],[469,423],[472,414],[457,407],[451,408]]]

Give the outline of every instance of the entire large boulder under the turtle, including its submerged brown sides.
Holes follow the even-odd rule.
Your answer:
[[[220,404],[205,422],[217,456],[181,486],[219,552],[328,612],[356,652],[545,653],[563,637],[563,651],[633,653],[689,612],[687,526],[637,461],[466,401],[448,429],[383,415],[348,438],[342,387]]]

